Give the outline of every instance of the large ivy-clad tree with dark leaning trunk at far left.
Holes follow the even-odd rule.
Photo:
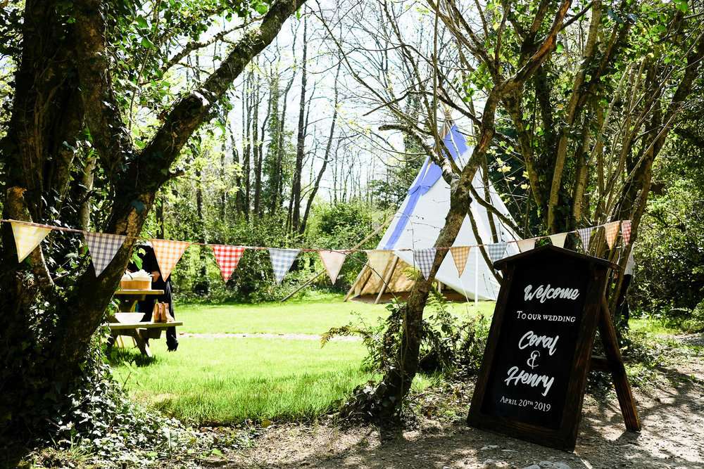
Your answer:
[[[27,0],[11,31],[21,44],[10,51],[17,70],[0,144],[3,218],[70,225],[92,198],[101,212],[96,231],[139,236],[158,189],[179,174],[171,167],[184,145],[303,1],[255,2],[263,13],[256,18],[246,2],[181,2],[177,10],[157,1],[144,11],[130,1]],[[241,18],[240,39],[203,82],[170,100],[165,73],[207,45],[199,37],[217,15]],[[254,20],[257,27],[247,28]],[[180,38],[187,46],[175,50]],[[133,137],[130,129],[144,122],[134,112],[140,103],[153,121]],[[87,193],[75,176],[92,155]],[[65,411],[69,394],[88,392],[91,338],[136,239],[127,238],[96,276],[86,255],[75,256],[75,239],[52,233],[51,243],[18,263],[9,224],[1,234],[0,435],[15,436]]]

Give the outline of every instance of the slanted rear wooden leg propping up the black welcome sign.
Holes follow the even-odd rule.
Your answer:
[[[611,368],[611,380],[616,389],[623,420],[628,430],[639,432],[641,431],[641,420],[638,417],[638,410],[636,409],[636,402],[631,392],[631,385],[628,383],[626,368],[623,365],[623,357],[618,347],[616,331],[611,321],[611,314],[609,313],[609,307],[605,297],[602,299],[600,309],[599,333],[601,334],[606,358]]]

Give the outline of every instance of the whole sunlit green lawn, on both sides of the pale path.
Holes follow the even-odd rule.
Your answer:
[[[341,302],[340,297],[267,304],[177,304],[180,333],[306,333],[387,314],[382,304]],[[478,311],[453,305],[458,316],[491,315],[493,302]],[[354,387],[374,378],[361,370],[367,350],[361,342],[267,338],[189,338],[178,352],[163,338],[151,343],[153,359],[137,349],[118,351],[113,371],[132,399],[198,424],[227,425],[244,420],[314,418],[331,411]],[[129,340],[126,342],[130,343]],[[417,387],[432,378],[418,377]]]

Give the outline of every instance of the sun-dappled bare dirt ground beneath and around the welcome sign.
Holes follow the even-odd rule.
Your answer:
[[[626,430],[613,392],[586,394],[574,453],[468,427],[464,416],[473,389],[468,383],[416,396],[413,423],[403,430],[273,424],[251,449],[203,463],[232,469],[704,469],[704,335],[671,339],[697,347],[674,347],[680,352],[659,364],[647,385],[634,388],[641,432]]]

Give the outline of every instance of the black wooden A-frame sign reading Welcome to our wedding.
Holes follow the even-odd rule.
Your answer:
[[[641,423],[605,300],[616,264],[544,246],[503,270],[467,423],[572,451],[590,368],[609,371],[628,430]],[[592,356],[599,328],[606,357]]]

